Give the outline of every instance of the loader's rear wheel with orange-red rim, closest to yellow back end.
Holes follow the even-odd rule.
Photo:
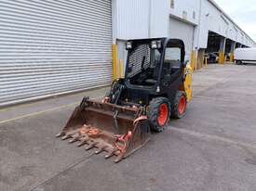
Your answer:
[[[172,118],[174,119],[182,119],[182,117],[186,114],[186,106],[187,106],[187,96],[185,92],[178,91],[172,108]]]

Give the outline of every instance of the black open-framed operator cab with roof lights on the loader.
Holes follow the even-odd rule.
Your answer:
[[[127,43],[127,49],[126,79],[130,85],[153,88],[162,79],[179,75],[182,70],[184,45],[181,40],[134,40]]]

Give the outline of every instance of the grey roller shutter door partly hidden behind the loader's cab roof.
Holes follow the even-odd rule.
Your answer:
[[[170,18],[169,37],[182,39],[186,48],[185,60],[190,60],[191,52],[193,50],[194,31],[194,25],[179,19]]]

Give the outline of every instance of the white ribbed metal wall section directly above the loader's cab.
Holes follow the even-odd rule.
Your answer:
[[[121,40],[168,36],[168,1],[113,0],[115,37]]]

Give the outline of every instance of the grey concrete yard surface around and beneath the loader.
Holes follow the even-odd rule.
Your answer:
[[[256,190],[256,67],[194,74],[187,115],[115,164],[54,137],[83,96],[0,110],[0,190]]]

